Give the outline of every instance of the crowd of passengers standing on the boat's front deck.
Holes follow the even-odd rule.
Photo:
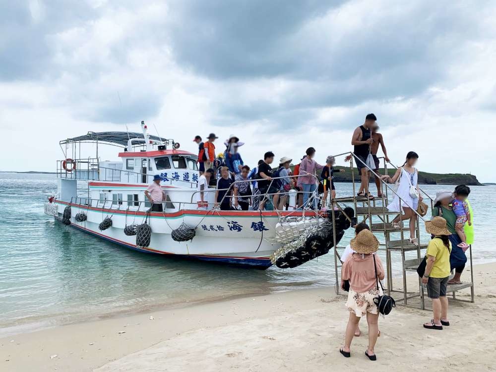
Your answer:
[[[200,177],[196,197],[199,208],[208,206],[205,192],[208,186],[216,187],[215,207],[221,210],[285,210],[290,206],[289,191],[292,189],[297,191],[296,205],[291,205],[292,208],[305,205],[317,209],[322,206],[317,192],[323,193],[323,200],[326,200],[328,190],[335,195],[332,182],[335,159],[329,156],[326,165],[316,163],[313,147],[307,149],[294,170],[290,168],[293,159],[287,156],[280,158],[274,167],[275,155],[271,151],[264,154],[256,167],[250,168],[239,153],[239,147],[244,143],[237,136],[231,135],[224,142],[225,151],[215,156],[217,138],[214,133],[209,134],[206,142],[202,142],[200,136],[194,138],[199,146]]]

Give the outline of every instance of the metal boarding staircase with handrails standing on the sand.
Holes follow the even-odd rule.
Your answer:
[[[425,223],[424,218],[414,211],[417,215],[415,230],[417,233],[417,244],[411,243],[409,239],[405,237],[405,231],[408,232],[408,225],[404,224],[400,221],[399,228],[393,226],[392,221],[395,217],[399,215],[398,212],[391,212],[388,210],[388,195],[396,194],[394,189],[386,184],[383,180],[381,180],[381,194],[382,197],[377,197],[374,199],[369,199],[368,197],[358,196],[356,192],[355,185],[355,175],[354,175],[354,166],[353,161],[356,159],[357,161],[361,161],[356,158],[353,153],[344,153],[336,155],[343,156],[347,155],[351,157],[350,159],[350,169],[352,175],[352,183],[353,183],[353,196],[339,197],[339,198],[330,198],[329,201],[323,201],[328,205],[328,208],[332,211],[332,220],[333,223],[335,221],[335,210],[343,211],[346,206],[352,206],[355,210],[355,216],[357,220],[357,224],[365,222],[367,223],[371,231],[380,241],[383,241],[379,245],[379,251],[385,252],[385,269],[386,269],[386,285],[384,288],[387,291],[389,296],[392,296],[396,302],[403,303],[405,306],[415,307],[419,309],[427,309],[425,302],[425,289],[422,285],[421,279],[418,277],[416,270],[422,261],[423,257],[426,254],[426,249],[428,246],[428,241],[421,241],[421,222]],[[388,162],[383,161],[383,175],[387,175],[387,164]],[[391,164],[391,163],[389,163]],[[368,171],[371,172],[373,176],[379,176],[374,172],[374,170],[370,169],[365,163],[363,164]],[[392,164],[391,164],[392,165]],[[394,167],[394,166],[393,166]],[[394,167],[396,168],[396,167]],[[420,192],[425,195],[424,198],[429,199],[431,209],[434,208],[434,200],[419,187]],[[399,195],[398,195],[399,197]],[[400,202],[402,201],[399,197]],[[352,205],[350,205],[352,204]],[[401,209],[401,208],[400,208]],[[334,266],[335,266],[335,291],[336,294],[339,294],[340,290],[340,267],[342,266],[341,255],[339,253],[340,249],[344,249],[345,247],[337,246],[336,242],[334,242]],[[474,302],[475,293],[474,293],[474,274],[473,274],[473,263],[472,263],[472,246],[470,246],[467,251],[469,255],[470,261],[470,282],[466,282],[463,284],[455,284],[448,285],[447,293],[452,294],[452,300],[462,301],[462,302]],[[393,286],[393,262],[397,259],[396,257],[401,258],[401,279],[402,279],[402,288],[394,288]],[[418,285],[415,288],[408,288],[407,275],[409,272],[415,272],[416,279],[418,279]],[[411,284],[411,283],[410,283]],[[412,285],[410,286],[412,287]],[[462,300],[456,297],[456,292],[470,288],[471,300]],[[396,296],[399,295],[399,296]],[[415,301],[414,301],[415,300]]]

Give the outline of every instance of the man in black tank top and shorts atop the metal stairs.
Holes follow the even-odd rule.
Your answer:
[[[369,199],[374,197],[369,192],[369,171],[365,164],[367,163],[367,157],[369,156],[370,146],[373,143],[372,139],[372,126],[375,124],[377,118],[374,114],[368,114],[365,117],[365,123],[360,125],[353,132],[353,137],[351,138],[351,144],[354,146],[353,153],[355,154],[355,160],[357,163],[358,173],[361,177],[360,189],[358,190],[358,196],[367,196]],[[351,155],[345,158],[346,161],[351,159]]]

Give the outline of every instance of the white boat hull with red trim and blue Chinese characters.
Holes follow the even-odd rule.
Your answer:
[[[60,200],[55,203],[58,205],[58,218],[61,219],[63,209],[68,203]],[[75,220],[75,215],[79,212],[86,214],[86,221]],[[106,217],[112,218],[112,226],[100,231],[99,224]],[[142,224],[145,218],[144,212],[71,204],[71,226],[126,248],[143,252],[174,254],[264,269],[271,266],[269,257],[281,246],[279,243],[271,244],[266,240],[275,237],[275,225],[279,222],[276,212],[213,210],[152,212],[147,218],[152,230],[150,244],[149,247],[140,248],[136,246],[135,236],[124,234],[124,227],[126,224]],[[176,242],[172,239],[171,232],[183,222],[188,226],[197,227],[196,235],[191,241]]]

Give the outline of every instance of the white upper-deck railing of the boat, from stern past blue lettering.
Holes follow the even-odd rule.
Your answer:
[[[57,161],[57,178],[78,181],[105,181],[148,184],[153,181],[154,175],[134,172],[119,168],[100,166],[97,158],[70,159]],[[65,167],[64,167],[65,162]],[[67,167],[69,165],[69,167]],[[124,173],[124,174],[123,174]],[[179,175],[178,175],[179,177]],[[163,182],[169,185],[195,188],[196,182],[181,180],[176,177],[163,177]]]

